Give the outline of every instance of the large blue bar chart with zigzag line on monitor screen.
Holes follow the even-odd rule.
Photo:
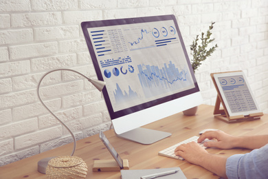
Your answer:
[[[146,97],[164,94],[178,89],[185,89],[192,85],[190,74],[181,70],[170,61],[164,67],[154,65],[137,65],[139,83]]]

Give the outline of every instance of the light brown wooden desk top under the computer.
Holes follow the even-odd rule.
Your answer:
[[[179,143],[191,136],[198,136],[201,129],[221,129],[234,136],[267,134],[268,115],[260,120],[245,121],[241,123],[225,123],[213,116],[213,106],[200,105],[197,116],[183,116],[182,113],[158,120],[146,125],[146,128],[168,131],[172,136],[160,140],[152,145],[141,145],[115,136],[113,129],[105,131],[111,144],[122,158],[129,160],[130,169],[155,169],[167,167],[180,167],[187,178],[219,178],[214,173],[197,165],[181,160],[158,156],[158,151]],[[51,156],[65,156],[72,151],[73,143],[43,152],[30,158],[25,158],[9,165],[0,167],[0,178],[46,178],[37,171],[37,162]],[[207,149],[211,154],[231,156],[233,154],[245,154],[247,149]],[[112,159],[109,151],[104,147],[98,134],[89,138],[78,140],[74,156],[79,156],[88,166],[87,178],[120,178],[120,171],[92,172],[93,160]]]

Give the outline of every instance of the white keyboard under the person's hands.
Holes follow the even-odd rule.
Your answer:
[[[190,143],[192,141],[196,142],[197,143],[197,139],[199,138],[199,136],[192,136],[191,138],[188,138],[186,140],[183,140],[182,142],[180,143],[177,143],[175,145],[172,145],[162,151],[159,151],[158,152],[158,155],[159,156],[166,156],[166,157],[170,157],[170,158],[175,158],[175,159],[178,159],[178,160],[184,160],[184,158],[182,158],[181,156],[176,156],[175,154],[175,149],[181,145],[181,144],[186,144],[186,143]],[[201,147],[203,147],[204,149],[206,149],[207,147],[203,146],[203,143],[205,143],[206,141],[210,141],[208,139],[206,140],[203,140],[202,143],[198,143]]]

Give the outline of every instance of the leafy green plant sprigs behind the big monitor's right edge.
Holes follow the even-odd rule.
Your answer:
[[[201,38],[199,39],[199,35],[197,35],[197,38],[192,41],[192,45],[190,45],[191,54],[193,56],[192,59],[192,70],[197,70],[197,68],[202,64],[202,61],[205,61],[208,56],[211,56],[211,54],[218,48],[218,45],[212,46],[212,48],[208,49],[208,45],[214,41],[213,39],[210,39],[213,29],[213,25],[215,22],[212,22],[211,25],[208,28],[207,33],[204,32],[201,33]],[[199,44],[201,41],[201,44]]]

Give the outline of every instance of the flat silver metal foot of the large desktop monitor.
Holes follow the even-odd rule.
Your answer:
[[[125,133],[122,134],[116,134],[116,136],[134,141],[136,143],[149,145],[157,142],[158,140],[162,140],[164,138],[167,138],[168,136],[171,136],[171,133],[166,131],[156,131],[153,129],[138,127],[131,131],[126,131]]]

